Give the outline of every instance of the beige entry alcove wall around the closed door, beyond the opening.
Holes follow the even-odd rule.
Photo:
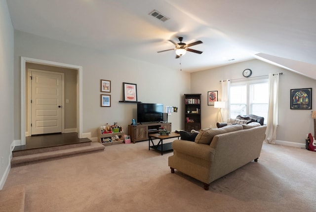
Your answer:
[[[77,70],[62,67],[54,67],[35,63],[26,63],[25,76],[28,76],[29,69],[64,73],[64,110],[65,130],[77,128]],[[28,79],[25,79],[25,99],[28,99]],[[66,103],[66,99],[69,100]],[[25,111],[28,111],[28,104],[25,103]],[[28,116],[25,117],[25,130],[28,131]]]

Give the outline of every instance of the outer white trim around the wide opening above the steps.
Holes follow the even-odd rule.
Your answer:
[[[40,60],[21,56],[21,145],[25,145],[25,78],[26,78],[26,63],[36,63],[42,65],[50,65],[63,68],[71,68],[77,70],[77,131],[78,137],[82,137],[82,66],[76,66],[66,63],[53,62],[48,60]]]

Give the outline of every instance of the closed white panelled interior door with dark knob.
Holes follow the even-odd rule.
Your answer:
[[[31,71],[31,134],[62,131],[62,73]]]

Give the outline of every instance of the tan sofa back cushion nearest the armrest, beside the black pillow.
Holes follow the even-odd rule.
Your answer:
[[[232,132],[242,129],[241,125],[231,125],[214,129],[201,129],[195,139],[196,143],[210,144],[213,137],[218,134]]]

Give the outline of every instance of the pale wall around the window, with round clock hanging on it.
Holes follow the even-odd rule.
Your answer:
[[[252,70],[251,77],[268,75],[269,73],[283,73],[279,77],[279,125],[277,127],[276,140],[305,145],[306,134],[311,132],[314,135],[312,110],[291,110],[290,89],[315,88],[316,81],[257,59],[192,73],[191,92],[202,93],[202,128],[209,127],[210,124],[214,125],[217,114],[217,109],[214,106],[207,106],[207,91],[218,90],[220,99],[221,84],[219,81],[243,78],[242,71],[247,68]],[[315,108],[316,99],[312,98],[312,100]]]

